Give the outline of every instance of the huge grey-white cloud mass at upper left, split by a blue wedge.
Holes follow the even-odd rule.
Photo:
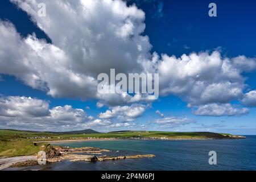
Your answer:
[[[35,35],[22,38],[13,24],[1,21],[0,73],[14,75],[53,97],[97,98],[110,105],[134,100],[129,95],[98,94],[96,78],[110,68],[116,73],[142,71],[139,62],[150,56],[151,48],[147,36],[141,35],[143,11],[122,1],[11,2],[31,16],[52,44]],[[46,17],[38,16],[42,2]]]

